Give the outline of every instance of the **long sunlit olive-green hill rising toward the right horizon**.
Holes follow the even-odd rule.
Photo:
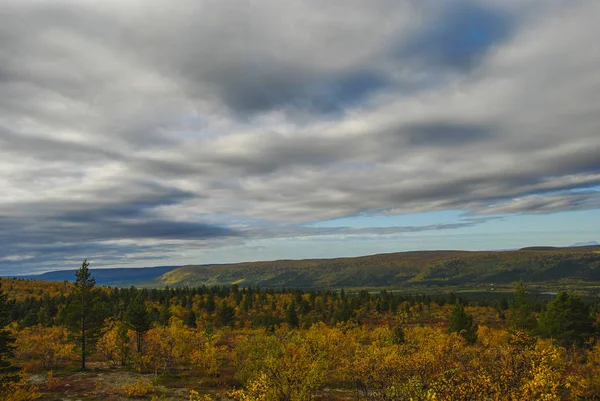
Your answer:
[[[482,252],[416,251],[355,258],[190,265],[169,271],[157,284],[401,288],[508,284],[519,280],[547,284],[600,282],[600,246]]]

